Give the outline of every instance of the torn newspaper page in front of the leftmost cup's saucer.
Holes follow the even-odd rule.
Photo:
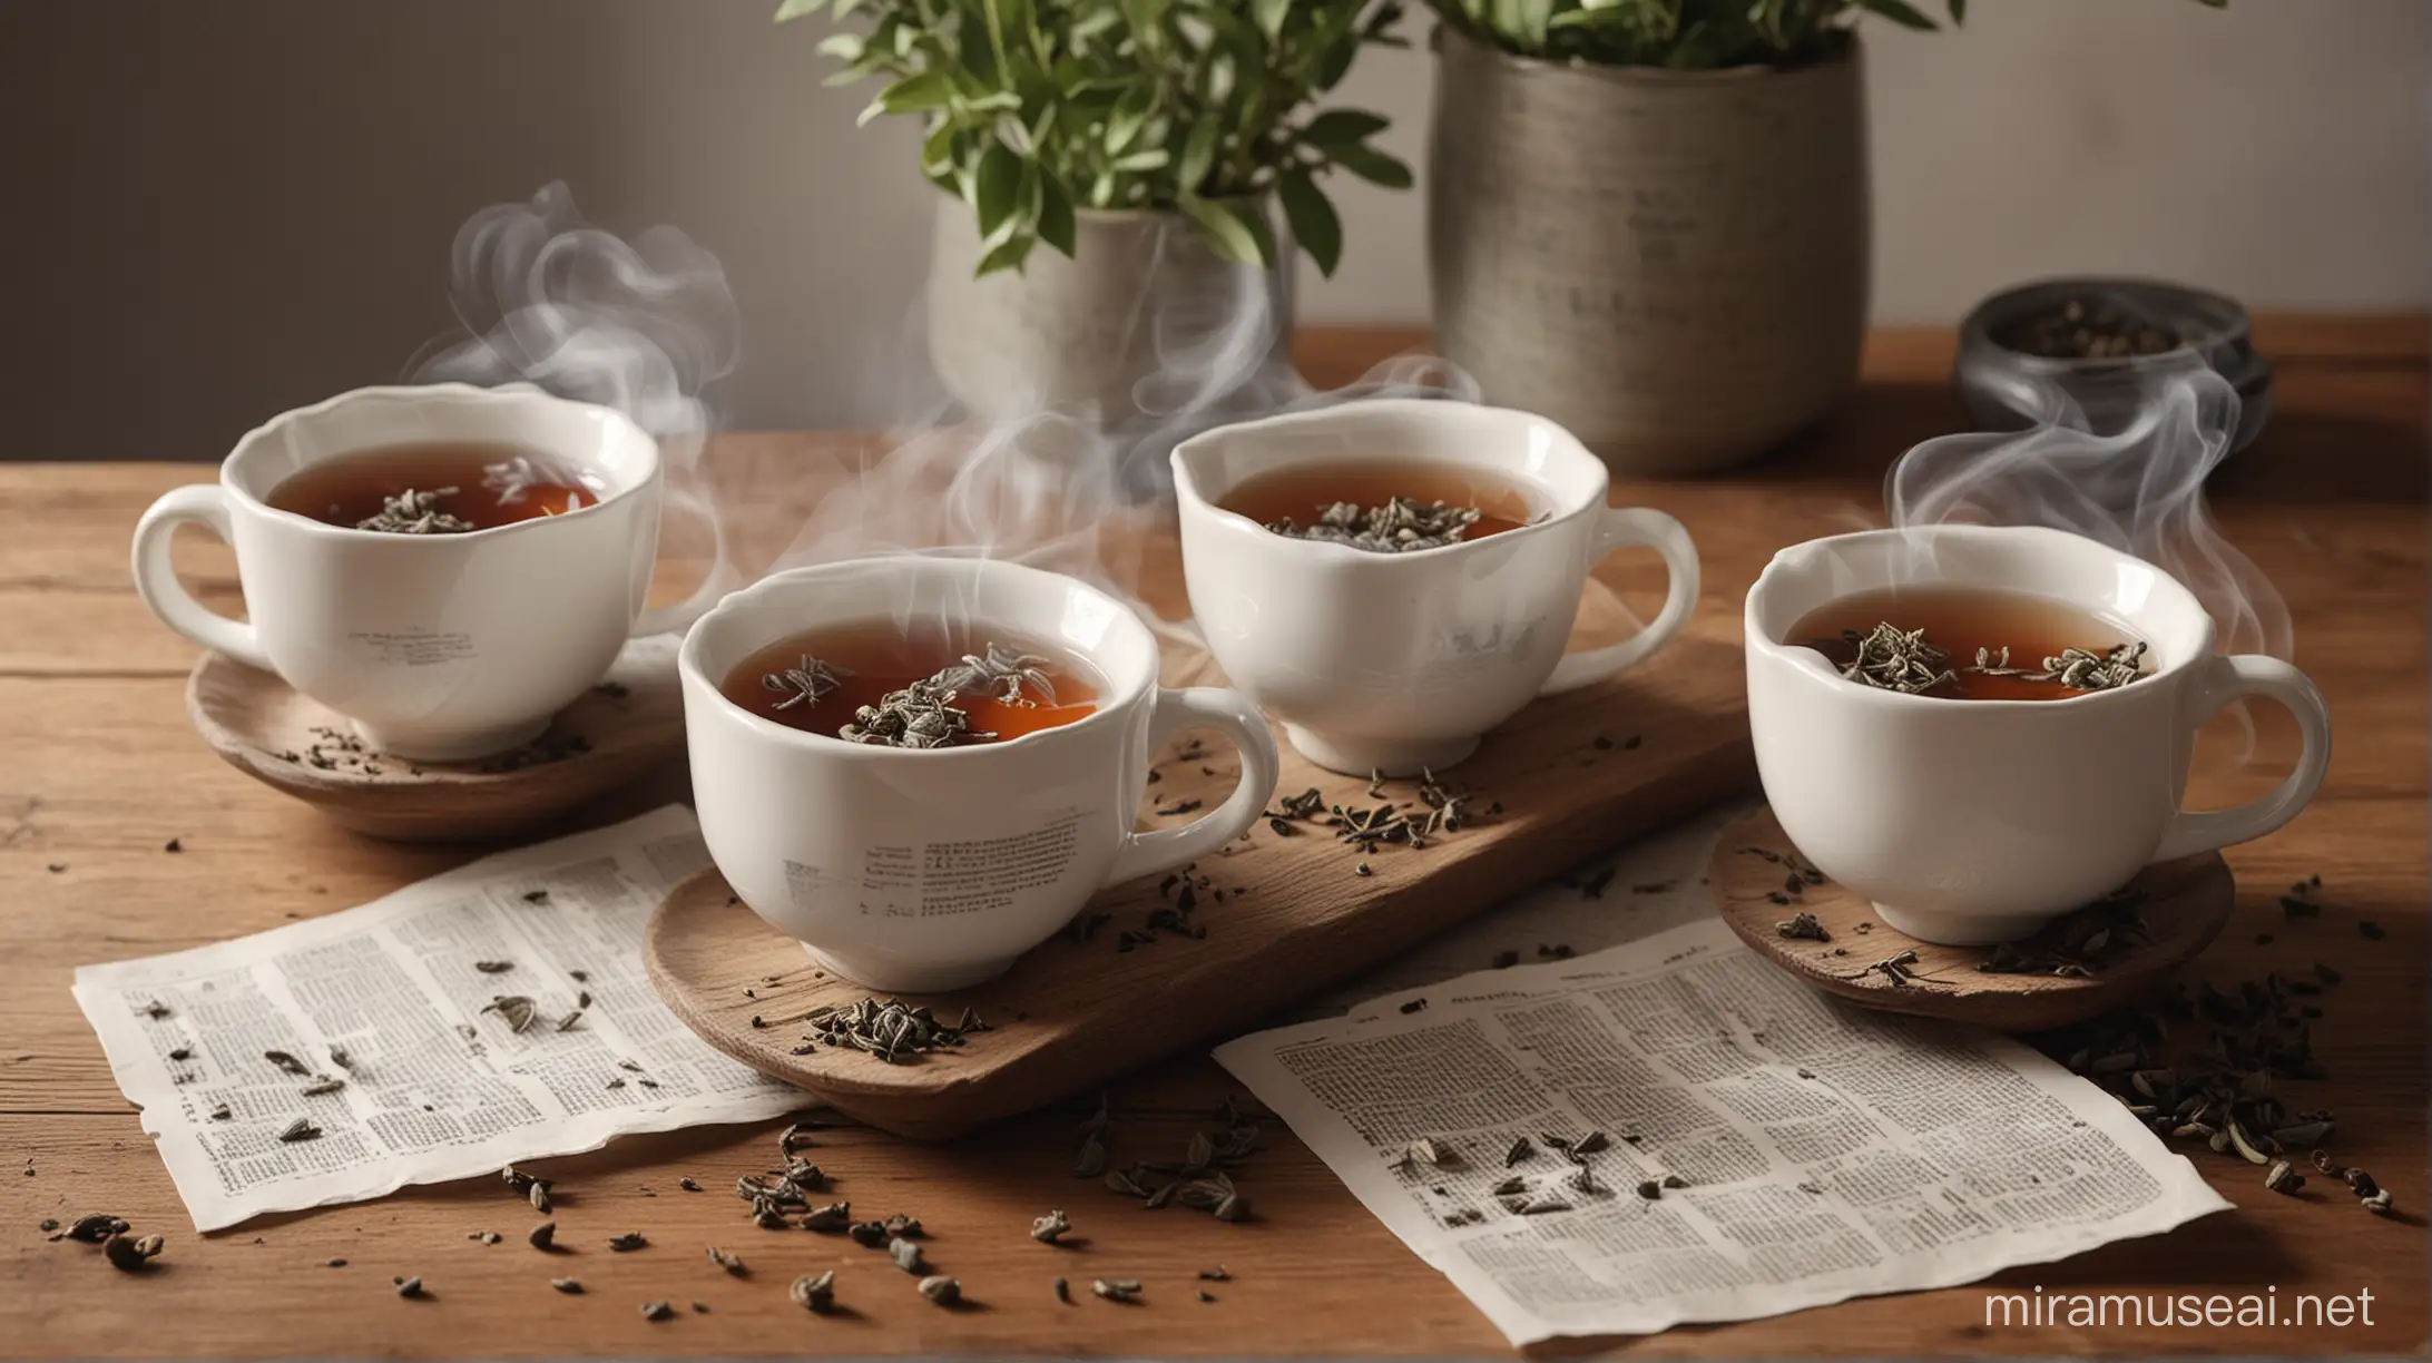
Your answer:
[[[686,1032],[642,974],[642,925],[705,864],[693,810],[666,806],[326,918],[83,966],[75,1000],[197,1232],[756,1122],[810,1100]]]

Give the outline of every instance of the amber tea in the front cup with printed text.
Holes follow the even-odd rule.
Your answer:
[[[985,657],[990,643],[1007,652],[1046,657],[1041,672],[1048,686],[1053,686],[1055,699],[1048,703],[1031,686],[1021,689],[1021,699],[1031,701],[1026,706],[1004,703],[990,694],[963,691],[956,696],[953,708],[970,716],[973,735],[992,733],[995,737],[963,737],[953,747],[1009,742],[1097,713],[1104,684],[1085,662],[1004,630],[961,630],[944,623],[927,623],[907,633],[893,621],[866,621],[788,635],[737,662],[717,691],[764,720],[837,737],[837,728],[854,723],[854,711],[861,706],[876,706],[888,691],[927,682],[941,669],[963,662],[963,655]],[[783,674],[788,667],[800,667],[805,657],[817,657],[834,669],[849,672],[849,677],[841,677],[837,689],[820,696],[817,703],[795,701],[786,706],[783,701],[798,691],[778,691],[761,679]]]

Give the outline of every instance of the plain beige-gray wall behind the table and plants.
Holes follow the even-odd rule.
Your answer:
[[[820,34],[771,10],[0,0],[0,458],[216,458],[394,380],[447,326],[457,224],[550,180],[725,260],[725,424],[919,411],[939,197],[914,129],[856,131],[868,90],[824,90]],[[1880,321],[2062,270],[2257,309],[2432,302],[2425,0],[1982,0],[1963,32],[1868,39]],[[1423,161],[1425,44],[1369,54],[1342,100]],[[1304,280],[1301,319],[1425,321],[1418,197],[1340,204],[1345,265]]]

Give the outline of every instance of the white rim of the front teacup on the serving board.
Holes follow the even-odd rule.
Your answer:
[[[1158,650],[1155,633],[1150,633],[1150,628],[1145,623],[1141,623],[1141,616],[1133,613],[1131,606],[1116,601],[1114,596],[1109,596],[1107,591],[1102,591],[1099,587],[1094,587],[1090,582],[1082,582],[1080,577],[1070,577],[1065,572],[1048,572],[1043,567],[1031,567],[1026,562],[1004,562],[1004,560],[992,560],[992,557],[893,553],[893,555],[846,557],[846,560],[837,560],[837,562],[817,562],[817,565],[803,565],[803,567],[786,567],[786,570],[771,572],[769,577],[761,577],[751,587],[739,587],[734,591],[727,591],[725,596],[720,596],[720,601],[715,606],[710,606],[708,611],[703,611],[703,616],[698,621],[693,621],[693,626],[688,630],[683,630],[683,645],[676,650],[676,672],[679,672],[679,679],[683,679],[686,684],[698,682],[700,686],[705,686],[713,696],[717,696],[715,703],[717,703],[720,713],[742,720],[749,733],[754,733],[759,737],[771,737],[771,740],[783,742],[783,745],[795,747],[795,750],[810,750],[810,752],[820,752],[820,755],[827,755],[827,757],[837,757],[839,762],[970,762],[970,759],[987,759],[990,755],[1014,752],[1014,750],[1021,750],[1024,745],[1041,747],[1041,742],[1034,742],[1034,740],[1048,740],[1046,745],[1053,745],[1053,742],[1075,742],[1082,733],[1094,733],[1097,728],[1104,728],[1104,725],[1111,725],[1111,723],[1124,723],[1124,713],[1143,694],[1158,689],[1158,672],[1155,672],[1155,667],[1150,667],[1150,672],[1148,672],[1148,677],[1143,682],[1138,682],[1133,686],[1121,686],[1121,682],[1116,677],[1107,674],[1107,669],[1092,657],[1090,664],[1097,667],[1099,674],[1107,679],[1107,684],[1114,686],[1119,694],[1111,696],[1111,699],[1099,699],[1099,703],[1097,703],[1094,711],[1090,711],[1087,716],[1082,716],[1082,718],[1077,718],[1073,723],[1063,723],[1063,725],[1055,725],[1055,728],[1031,730],[1031,733],[1024,733],[1019,737],[1007,737],[1007,740],[997,740],[997,742],[973,742],[968,747],[890,747],[890,745],[878,745],[878,742],[844,742],[844,740],[832,737],[832,735],[807,733],[807,730],[800,730],[800,728],[793,728],[793,725],[781,725],[781,723],[776,723],[771,718],[764,718],[764,716],[754,716],[751,711],[737,706],[725,694],[725,689],[720,686],[720,679],[710,677],[710,669],[700,664],[700,652],[708,647],[705,638],[708,638],[710,621],[715,621],[720,613],[737,613],[737,611],[751,606],[759,599],[766,599],[766,596],[773,596],[778,591],[790,589],[798,582],[820,579],[820,577],[846,577],[851,572],[885,572],[885,570],[907,567],[907,565],[922,565],[922,567],[927,567],[927,565],[973,565],[975,572],[1009,572],[1009,574],[1017,574],[1017,577],[1046,577],[1046,579],[1060,582],[1065,591],[1070,591],[1070,589],[1090,591],[1090,594],[1099,596],[1102,601],[1107,601],[1109,606],[1114,606],[1114,618],[1121,621],[1116,628],[1121,628],[1121,630],[1138,630],[1136,638],[1138,638],[1141,645],[1148,647],[1148,655],[1153,660],[1162,657],[1160,650]],[[773,640],[769,640],[769,643],[773,643]],[[766,645],[759,645],[759,647],[766,647]]]

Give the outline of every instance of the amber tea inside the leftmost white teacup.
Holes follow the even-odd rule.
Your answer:
[[[440,497],[435,511],[489,531],[598,506],[606,479],[516,445],[447,441],[321,460],[280,479],[270,489],[270,504],[326,526],[355,528],[379,516],[392,497],[443,487],[455,492]]]

